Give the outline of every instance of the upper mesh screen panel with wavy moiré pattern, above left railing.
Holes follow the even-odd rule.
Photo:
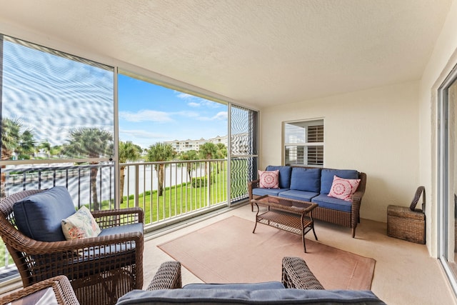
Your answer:
[[[1,159],[112,156],[114,69],[0,37]]]

